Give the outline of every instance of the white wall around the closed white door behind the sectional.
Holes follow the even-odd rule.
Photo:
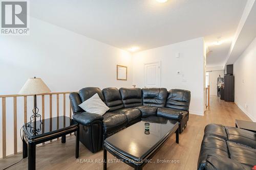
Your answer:
[[[144,63],[161,61],[161,87],[191,91],[190,113],[204,113],[203,38],[170,44],[133,55],[133,84],[144,87]],[[176,58],[180,53],[180,58]],[[177,70],[181,71],[177,75]]]

